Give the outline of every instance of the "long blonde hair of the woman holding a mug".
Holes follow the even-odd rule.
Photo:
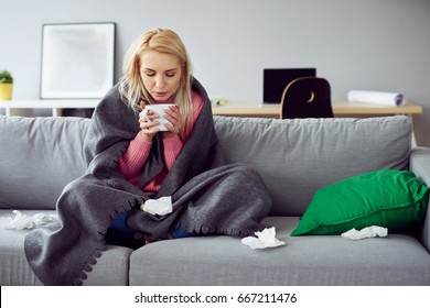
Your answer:
[[[181,116],[185,120],[185,125],[191,121],[193,105],[191,101],[191,78],[192,66],[189,53],[180,36],[168,29],[152,29],[138,37],[126,53],[122,66],[122,77],[119,80],[119,91],[128,99],[129,106],[139,111],[140,101],[153,103],[151,95],[143,86],[140,76],[141,56],[147,51],[166,53],[179,58],[182,66],[180,86],[174,95],[174,103],[180,106]],[[181,135],[184,135],[182,128]]]

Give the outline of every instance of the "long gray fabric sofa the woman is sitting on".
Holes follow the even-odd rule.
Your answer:
[[[55,212],[85,170],[89,119],[0,117],[0,217]],[[215,117],[230,162],[252,165],[273,206],[265,226],[286,245],[251,250],[211,235],[108,246],[84,285],[430,285],[430,218],[387,238],[291,237],[316,189],[368,170],[410,169],[430,185],[430,148],[411,148],[406,117]],[[42,227],[43,228],[43,227]],[[0,285],[40,285],[26,264],[28,230],[0,229]]]

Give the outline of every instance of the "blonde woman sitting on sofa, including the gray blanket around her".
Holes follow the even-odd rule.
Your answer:
[[[159,103],[173,105],[166,131],[154,129],[160,114],[140,117]],[[64,188],[60,222],[25,239],[29,264],[44,284],[80,284],[106,242],[138,249],[264,229],[271,206],[265,183],[251,167],[223,162],[211,101],[170,30],[151,30],[131,45],[123,77],[95,110],[85,147],[87,172]],[[171,212],[144,210],[165,198]]]

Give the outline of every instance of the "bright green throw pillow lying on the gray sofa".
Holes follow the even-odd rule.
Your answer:
[[[381,169],[319,189],[291,235],[341,234],[369,226],[401,232],[426,215],[429,187],[411,172]]]

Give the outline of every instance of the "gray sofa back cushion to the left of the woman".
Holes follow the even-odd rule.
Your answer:
[[[54,209],[64,186],[83,175],[83,118],[0,117],[0,208]]]

